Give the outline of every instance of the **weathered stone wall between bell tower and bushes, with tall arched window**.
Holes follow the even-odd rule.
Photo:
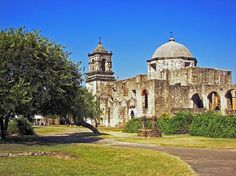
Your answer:
[[[154,82],[153,80],[148,80],[146,75],[138,75],[137,77],[125,80],[101,84],[99,89],[103,120],[108,121],[108,116],[110,115],[110,125],[114,126],[115,124],[120,124],[121,126],[122,123],[131,119],[132,110],[136,118],[154,116]],[[148,93],[148,108],[144,107],[143,90],[146,90]],[[99,97],[99,94],[97,96]],[[136,100],[135,107],[130,107],[131,99]],[[109,124],[104,125],[109,126]]]

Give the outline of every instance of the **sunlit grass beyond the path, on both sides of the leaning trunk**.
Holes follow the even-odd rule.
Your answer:
[[[210,138],[201,136],[163,135],[162,138],[137,137],[136,133],[122,133],[121,128],[99,127],[100,132],[109,134],[102,135],[102,138],[112,138],[123,142],[155,144],[159,146],[194,147],[210,149],[236,149],[235,138]],[[38,135],[63,134],[65,132],[90,131],[81,127],[68,126],[46,126],[34,128]]]

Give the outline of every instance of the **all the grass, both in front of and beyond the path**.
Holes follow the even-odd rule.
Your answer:
[[[88,129],[70,126],[34,127],[38,136],[65,133],[89,132]],[[143,138],[137,134],[122,133],[119,128],[99,127],[104,133],[99,138],[118,141],[155,144],[160,146],[198,147],[214,149],[236,149],[236,139],[196,137],[190,135],[164,135],[162,138]],[[90,135],[90,133],[85,133]],[[92,134],[92,133],[91,133]],[[92,136],[91,137],[97,137]],[[21,138],[21,137],[18,137]],[[37,136],[33,136],[38,138]],[[56,175],[160,175],[191,176],[192,169],[179,158],[166,153],[109,146],[106,144],[26,144],[18,142],[0,143],[1,153],[54,152],[70,155],[71,158],[54,156],[0,157],[1,176],[56,176]]]

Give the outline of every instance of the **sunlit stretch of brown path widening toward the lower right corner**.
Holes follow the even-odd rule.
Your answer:
[[[99,141],[101,143],[102,141]],[[108,141],[104,141],[108,142]],[[149,144],[135,144],[112,141],[114,146],[152,149],[178,156],[201,176],[236,176],[236,151],[196,148],[159,147]]]

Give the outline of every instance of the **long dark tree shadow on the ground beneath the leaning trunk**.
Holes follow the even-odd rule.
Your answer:
[[[79,132],[71,134],[59,134],[51,136],[9,136],[7,140],[0,141],[0,144],[25,144],[25,145],[57,145],[70,143],[96,143],[103,138],[101,133],[96,135],[92,132]]]

